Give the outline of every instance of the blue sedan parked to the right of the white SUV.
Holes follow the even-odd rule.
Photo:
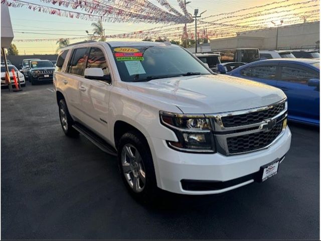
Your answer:
[[[290,121],[319,126],[320,67],[316,59],[255,61],[227,74],[275,86],[288,100]]]

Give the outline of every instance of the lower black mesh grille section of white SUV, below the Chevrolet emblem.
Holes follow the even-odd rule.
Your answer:
[[[271,144],[282,132],[283,122],[277,123],[270,131],[227,138],[230,154],[251,152]]]

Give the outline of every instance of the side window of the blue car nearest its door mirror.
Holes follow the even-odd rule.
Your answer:
[[[283,81],[307,84],[309,79],[319,79],[319,74],[316,71],[307,71],[296,66],[282,67],[281,80]]]

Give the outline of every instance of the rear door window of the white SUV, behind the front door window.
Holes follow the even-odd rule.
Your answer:
[[[87,48],[74,49],[73,56],[68,66],[68,73],[84,75],[84,68],[87,62]]]

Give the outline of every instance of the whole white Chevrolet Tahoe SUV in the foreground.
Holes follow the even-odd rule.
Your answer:
[[[118,156],[130,193],[216,194],[275,175],[290,148],[277,88],[216,75],[170,43],[62,49],[54,89],[64,133]]]

